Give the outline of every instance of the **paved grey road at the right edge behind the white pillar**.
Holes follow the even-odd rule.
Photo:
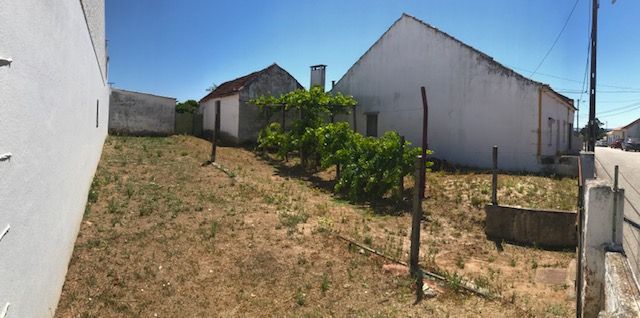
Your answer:
[[[626,152],[608,147],[596,147],[596,174],[613,183],[614,167],[619,167],[618,184],[624,189],[624,250],[640,277],[640,152]]]

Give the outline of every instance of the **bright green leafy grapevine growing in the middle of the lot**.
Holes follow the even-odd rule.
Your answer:
[[[340,165],[335,191],[352,200],[381,199],[397,189],[398,180],[412,173],[414,160],[420,155],[419,148],[409,147],[408,142],[402,145],[396,132],[380,138],[364,137],[348,123],[325,124],[327,115],[348,113],[356,105],[351,96],[332,95],[313,87],[280,97],[261,96],[251,102],[263,111],[284,107],[302,113],[289,131],[278,123],[268,125],[258,136],[259,149],[274,151],[280,158],[299,151],[303,164],[308,158],[317,159],[320,169]]]

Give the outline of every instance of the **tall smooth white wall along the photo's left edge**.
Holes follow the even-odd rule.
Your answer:
[[[88,18],[104,28],[102,14]],[[7,318],[53,316],[107,134],[109,90],[95,52],[106,54],[86,21],[80,1],[1,2],[0,57],[13,59],[0,67],[0,155],[12,155],[0,161]]]

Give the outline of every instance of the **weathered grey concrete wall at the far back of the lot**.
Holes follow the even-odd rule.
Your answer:
[[[133,136],[173,134],[176,99],[151,94],[111,90],[109,133]]]

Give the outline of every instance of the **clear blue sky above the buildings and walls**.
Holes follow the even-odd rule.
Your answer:
[[[330,83],[403,12],[530,76],[575,1],[106,0],[109,81],[198,100],[211,83],[276,62],[304,86],[310,65],[327,64]],[[573,99],[580,98],[585,76],[591,10],[590,0],[577,1],[557,44],[532,76]],[[598,112],[610,128],[640,117],[639,12],[640,1],[601,0]],[[587,110],[588,95],[582,94],[581,125]]]

